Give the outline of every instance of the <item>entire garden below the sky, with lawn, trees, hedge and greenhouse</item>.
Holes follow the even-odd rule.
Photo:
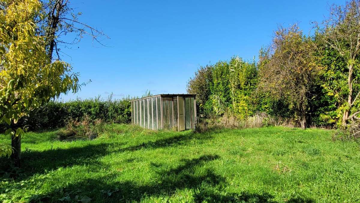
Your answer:
[[[199,65],[187,96],[65,101],[91,81],[59,47],[109,38],[74,9],[0,0],[0,202],[360,202],[360,0]]]

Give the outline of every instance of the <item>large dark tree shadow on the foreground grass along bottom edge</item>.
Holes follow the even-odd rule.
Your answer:
[[[226,193],[225,177],[216,174],[211,169],[197,171],[207,162],[219,159],[218,155],[202,155],[199,158],[183,159],[178,167],[170,170],[158,170],[159,181],[148,184],[138,184],[133,181],[116,181],[108,183],[104,180],[115,180],[116,175],[99,179],[87,179],[65,188],[58,188],[44,195],[34,195],[32,202],[54,202],[66,197],[77,201],[79,197],[91,198],[92,202],[138,202],[144,198],[167,198],[183,189],[193,190],[195,202],[271,202],[270,194]],[[151,164],[151,167],[161,167]],[[198,172],[198,173],[197,173]],[[76,192],[74,192],[76,191]]]

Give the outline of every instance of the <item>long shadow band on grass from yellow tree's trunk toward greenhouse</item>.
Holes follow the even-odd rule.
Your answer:
[[[158,149],[164,147],[176,147],[189,144],[190,140],[207,140],[211,135],[185,134],[158,139],[155,141],[143,142],[138,145],[122,148],[125,143],[86,143],[82,146],[75,146],[67,149],[56,148],[45,151],[25,150],[22,152],[22,171],[21,176],[14,174],[12,177],[24,180],[35,173],[56,170],[59,167],[69,167],[84,164],[102,165],[96,159],[112,153],[135,152],[141,149]],[[49,146],[50,147],[50,146]],[[4,159],[4,164],[6,160]],[[1,169],[1,167],[0,167]],[[1,170],[0,170],[1,171]],[[1,175],[1,174],[0,174]]]

